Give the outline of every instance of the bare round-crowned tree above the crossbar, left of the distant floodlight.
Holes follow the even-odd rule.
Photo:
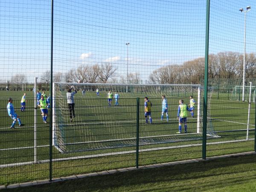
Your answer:
[[[101,81],[102,83],[106,83],[109,78],[114,76],[115,72],[116,72],[116,68],[113,67],[111,63],[102,64],[99,67],[99,71],[98,71],[99,81]]]

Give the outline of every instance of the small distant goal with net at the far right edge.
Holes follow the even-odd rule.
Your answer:
[[[242,95],[243,95],[243,86],[236,85],[233,88],[231,99],[233,101],[242,101]],[[244,86],[244,101],[249,101],[249,96],[250,96],[250,86]],[[252,96],[252,101],[255,102],[256,86],[252,86],[251,96]]]

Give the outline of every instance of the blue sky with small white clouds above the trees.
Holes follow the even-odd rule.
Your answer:
[[[51,1],[0,0],[0,80],[30,81],[50,68]],[[155,69],[204,56],[206,0],[55,0],[54,72],[111,62],[147,79]],[[255,52],[256,2],[211,0],[209,52]],[[254,9],[255,8],[255,9]]]

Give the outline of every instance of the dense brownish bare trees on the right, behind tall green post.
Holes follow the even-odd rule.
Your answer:
[[[243,55],[238,52],[219,52],[209,55],[208,79],[226,81],[242,79]],[[255,53],[245,56],[245,79],[256,77]],[[186,61],[182,65],[169,65],[154,70],[149,80],[153,84],[200,84],[204,79],[204,58]]]

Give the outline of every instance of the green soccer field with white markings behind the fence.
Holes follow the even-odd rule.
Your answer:
[[[47,95],[49,93],[46,93]],[[192,93],[191,93],[192,94]],[[36,149],[34,132],[34,99],[32,91],[27,92],[26,111],[20,112],[23,92],[0,92],[0,169],[4,177],[0,183],[35,180],[49,177],[49,123],[42,121],[37,111]],[[11,130],[12,119],[8,116],[7,99],[12,96],[14,107],[24,127]],[[197,118],[188,116],[188,134],[178,131],[177,107],[179,99],[189,103],[188,96],[167,97],[169,122],[166,116],[161,121],[162,99],[149,98],[153,104],[153,124],[145,124],[144,96],[137,93],[119,99],[119,106],[108,107],[106,94],[96,98],[94,92],[86,92],[82,98],[77,93],[76,117],[70,122],[67,108],[59,124],[62,125],[65,151],[52,147],[52,176],[61,177],[108,169],[135,166],[137,100],[140,97],[140,152],[139,165],[163,163],[201,157],[202,135],[197,133]],[[79,99],[77,99],[79,98]],[[196,98],[195,98],[196,100]],[[201,99],[202,100],[202,99]],[[113,99],[114,101],[114,99]],[[226,97],[212,97],[207,125],[212,125],[215,135],[207,137],[207,157],[254,150],[255,104],[251,104],[249,137],[247,138],[248,102],[230,101]],[[48,119],[49,120],[49,119]],[[184,131],[184,130],[183,130]],[[247,140],[246,140],[247,139]],[[13,169],[15,166],[15,169]],[[26,176],[23,173],[28,173]]]

